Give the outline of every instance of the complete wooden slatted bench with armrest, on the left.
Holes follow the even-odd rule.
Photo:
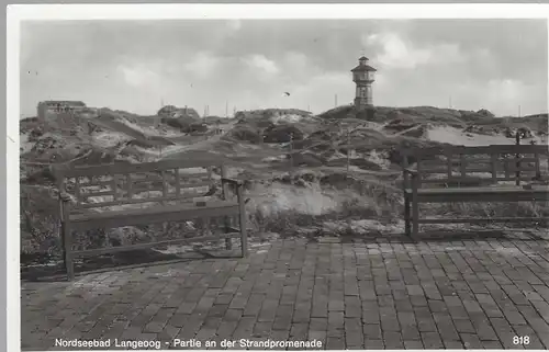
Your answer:
[[[215,170],[220,174],[215,173]],[[240,237],[242,256],[246,256],[243,182],[227,178],[224,166],[189,160],[163,160],[81,168],[57,166],[53,168],[53,172],[59,188],[63,251],[69,281],[75,276],[76,258],[158,246],[225,239],[226,249],[232,249],[231,239]],[[229,189],[233,189],[233,197],[229,196]],[[209,224],[210,219],[220,217],[223,219],[224,234],[216,236],[100,249],[72,248],[72,231],[198,218],[205,219]],[[232,226],[235,217],[239,223],[238,228]]]

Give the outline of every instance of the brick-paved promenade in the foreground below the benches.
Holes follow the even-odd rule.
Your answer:
[[[63,349],[55,339],[549,349],[548,243],[287,239],[246,259],[22,283],[22,349]]]

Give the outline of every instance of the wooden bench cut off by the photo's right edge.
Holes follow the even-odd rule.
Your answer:
[[[423,148],[403,158],[406,235],[419,224],[539,220],[529,217],[419,218],[421,203],[547,202],[547,146],[492,145]],[[415,163],[415,168],[411,168]],[[538,182],[540,181],[540,182]],[[506,184],[507,183],[507,184]]]

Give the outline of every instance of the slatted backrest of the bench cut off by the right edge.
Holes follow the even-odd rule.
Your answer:
[[[549,173],[548,146],[451,146],[405,151],[403,167],[415,159],[419,184],[452,186],[531,181]],[[404,182],[408,180],[405,177]]]

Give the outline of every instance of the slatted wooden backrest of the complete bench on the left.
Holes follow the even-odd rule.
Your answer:
[[[113,163],[80,168],[56,167],[60,192],[74,196],[71,209],[183,201],[192,202],[221,186],[223,166],[188,160]],[[217,188],[217,184],[220,186]]]

